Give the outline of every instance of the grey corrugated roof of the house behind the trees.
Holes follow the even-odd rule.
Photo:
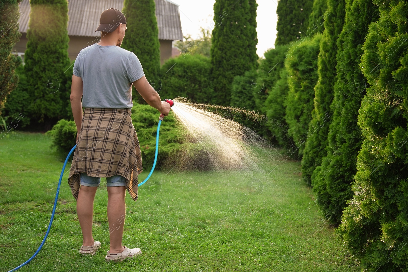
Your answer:
[[[178,5],[170,0],[155,0],[159,40],[183,40]],[[20,3],[20,32],[27,33],[30,4],[29,0]],[[123,9],[123,0],[69,0],[68,35],[100,37],[95,32],[99,25],[100,14],[111,7]]]

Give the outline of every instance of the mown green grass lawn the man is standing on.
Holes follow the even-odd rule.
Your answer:
[[[47,230],[63,164],[50,142],[41,133],[0,139],[1,271],[29,259]],[[20,270],[359,271],[300,181],[299,161],[279,159],[276,150],[258,157],[256,173],[155,171],[136,202],[126,193],[123,244],[143,253],[122,263],[104,260],[106,179],[94,204],[93,234],[102,248],[92,257],[79,254],[82,234],[66,172],[49,237]]]

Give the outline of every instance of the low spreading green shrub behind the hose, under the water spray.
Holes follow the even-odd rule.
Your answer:
[[[153,166],[159,114],[149,105],[135,104],[132,108],[132,122],[142,151],[143,169],[146,170]],[[216,156],[211,150],[211,147],[191,137],[170,111],[160,125],[156,169],[211,170],[215,167],[212,158]]]

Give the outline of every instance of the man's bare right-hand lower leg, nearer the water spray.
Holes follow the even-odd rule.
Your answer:
[[[109,252],[120,253],[122,246],[123,226],[125,221],[125,186],[110,186],[108,189],[108,221],[111,244]]]

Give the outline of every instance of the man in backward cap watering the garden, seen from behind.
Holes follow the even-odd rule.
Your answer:
[[[80,253],[93,255],[101,246],[92,236],[93,199],[100,178],[106,177],[110,246],[105,259],[122,261],[142,253],[140,248],[122,246],[125,188],[136,201],[137,175],[142,172],[131,122],[132,85],[165,116],[170,104],[162,102],[146,80],[136,55],[118,47],[126,31],[122,12],[106,9],[96,31],[101,31],[100,42],[82,49],[73,69],[70,100],[78,135],[68,183],[77,199],[83,236]]]

